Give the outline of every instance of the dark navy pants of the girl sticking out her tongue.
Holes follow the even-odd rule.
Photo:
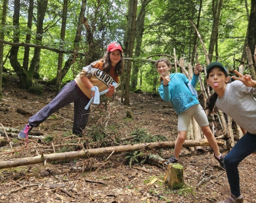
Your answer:
[[[231,194],[235,195],[235,197],[241,195],[237,166],[245,157],[254,151],[256,151],[256,135],[247,132],[237,141],[233,149],[224,158]]]

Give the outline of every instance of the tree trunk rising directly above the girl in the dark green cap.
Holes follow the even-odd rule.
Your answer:
[[[222,7],[222,0],[212,0],[212,13],[213,13],[213,23],[211,29],[211,39],[209,43],[208,55],[210,57],[210,62],[212,61],[212,56],[214,52],[214,45],[218,35],[218,23],[220,17],[220,11]]]

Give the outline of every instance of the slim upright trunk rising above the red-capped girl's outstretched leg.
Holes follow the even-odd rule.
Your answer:
[[[62,11],[62,21],[61,21],[61,30],[60,30],[60,48],[63,47],[65,32],[66,32],[66,23],[67,23],[67,13],[68,13],[68,0],[63,1],[63,11]],[[56,77],[56,91],[55,96],[59,94],[61,89],[61,69],[63,63],[63,52],[59,53],[58,57],[58,68],[57,68],[57,77]]]

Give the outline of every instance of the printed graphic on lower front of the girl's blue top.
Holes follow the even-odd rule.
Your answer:
[[[193,98],[188,93],[181,92],[176,97],[172,98],[171,103],[177,114],[180,114],[184,110],[188,109],[193,102]]]

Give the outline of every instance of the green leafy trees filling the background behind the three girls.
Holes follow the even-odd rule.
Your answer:
[[[161,56],[154,55],[174,56],[175,49],[177,60],[183,57],[185,66],[194,66],[197,45],[199,61],[207,65],[192,21],[210,61],[220,61],[231,72],[244,61],[244,71],[250,73],[245,47],[253,55],[255,7],[247,0],[3,0],[0,69],[15,72],[25,89],[32,79],[47,78],[55,84],[57,70],[64,82],[100,59],[116,41],[127,61],[132,60],[123,81],[129,79],[125,83],[131,90],[155,91],[158,74],[153,62]],[[142,60],[148,57],[151,60]]]

